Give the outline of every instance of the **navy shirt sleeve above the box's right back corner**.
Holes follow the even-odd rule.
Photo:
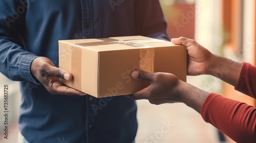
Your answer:
[[[136,35],[169,41],[167,24],[159,1],[136,1],[135,14]]]

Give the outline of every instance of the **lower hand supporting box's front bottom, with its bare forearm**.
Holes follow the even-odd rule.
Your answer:
[[[132,77],[137,80],[151,81],[150,86],[127,96],[133,100],[147,99],[150,103],[157,105],[183,102],[200,113],[201,107],[209,94],[181,81],[173,74],[134,71]]]

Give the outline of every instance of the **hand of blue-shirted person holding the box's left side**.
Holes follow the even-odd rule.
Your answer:
[[[66,70],[57,68],[53,62],[46,57],[38,57],[34,59],[31,63],[30,71],[31,74],[37,78],[37,80],[39,80],[51,94],[86,94],[61,84],[59,82],[59,78],[70,81],[72,80],[72,75]]]

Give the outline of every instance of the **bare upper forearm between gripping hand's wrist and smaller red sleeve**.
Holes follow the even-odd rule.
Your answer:
[[[215,76],[233,86],[236,86],[241,68],[242,63],[214,55],[209,62],[209,69],[206,74]]]

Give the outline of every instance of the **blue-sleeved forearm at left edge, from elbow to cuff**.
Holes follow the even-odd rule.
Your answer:
[[[34,82],[30,74],[31,62],[37,57],[8,39],[0,37],[0,71],[15,81]]]

